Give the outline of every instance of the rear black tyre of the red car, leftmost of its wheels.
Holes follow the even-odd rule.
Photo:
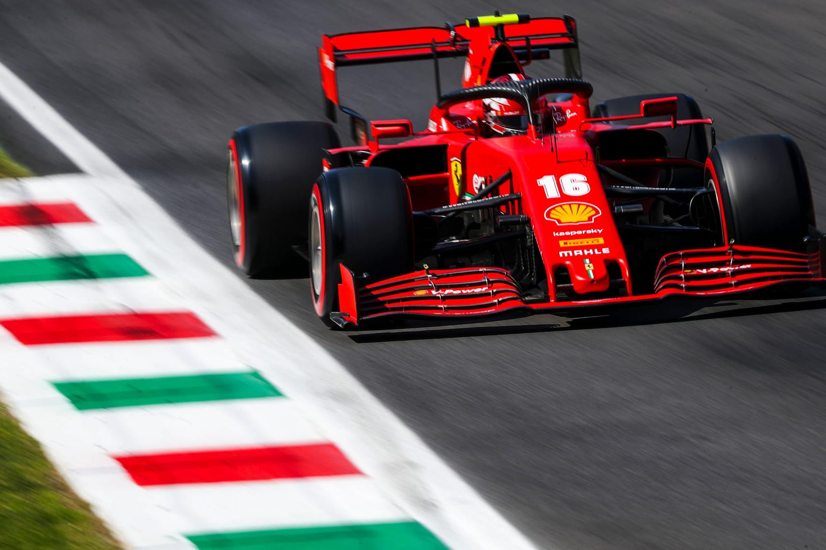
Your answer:
[[[306,200],[323,149],[338,148],[325,122],[270,122],[235,130],[227,153],[227,196],[235,263],[253,279],[300,275],[292,247],[306,243]]]

